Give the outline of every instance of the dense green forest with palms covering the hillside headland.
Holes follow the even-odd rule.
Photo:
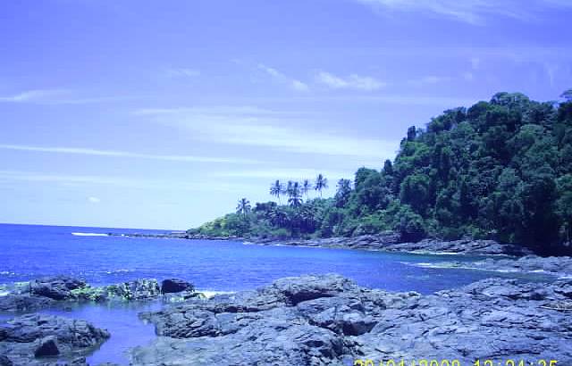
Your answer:
[[[237,237],[332,237],[400,233],[493,238],[558,253],[572,238],[572,91],[563,103],[498,93],[455,108],[425,129],[410,127],[393,162],[360,168],[328,186],[275,181],[276,202],[239,201],[237,212],[192,234]],[[308,191],[320,195],[308,198]],[[282,204],[282,198],[285,199]]]

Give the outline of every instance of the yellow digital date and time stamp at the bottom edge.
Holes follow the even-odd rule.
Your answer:
[[[458,360],[384,360],[376,362],[371,359],[357,359],[354,366],[558,366],[557,360],[521,360],[507,359],[503,361],[475,360],[471,363],[462,363]]]

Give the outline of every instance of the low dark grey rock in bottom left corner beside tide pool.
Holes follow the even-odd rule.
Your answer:
[[[109,337],[106,330],[84,320],[29,314],[0,326],[0,355],[4,362],[18,365],[44,364],[42,360],[50,356],[77,359]]]

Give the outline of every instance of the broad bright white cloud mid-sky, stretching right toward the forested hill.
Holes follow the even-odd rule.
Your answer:
[[[147,113],[147,116],[151,116]],[[300,154],[354,156],[382,159],[394,156],[398,143],[368,137],[352,137],[348,131],[328,133],[307,126],[304,119],[268,112],[237,112],[229,108],[162,110],[153,115],[155,121],[183,129],[189,136],[213,143],[238,146],[260,146]],[[303,132],[299,127],[305,126]]]

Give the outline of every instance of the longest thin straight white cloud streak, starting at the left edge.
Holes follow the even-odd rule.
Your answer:
[[[257,164],[260,161],[240,158],[210,157],[196,155],[168,155],[168,154],[139,154],[116,150],[97,150],[84,147],[64,147],[64,146],[27,146],[27,145],[6,145],[0,144],[0,149],[29,151],[37,153],[57,153],[57,154],[80,154],[95,155],[116,158],[150,159],[170,162],[221,162],[221,163],[241,163]]]

